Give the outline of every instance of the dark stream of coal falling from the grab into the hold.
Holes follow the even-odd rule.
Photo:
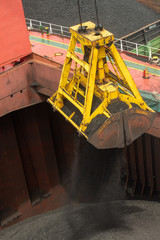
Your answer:
[[[71,199],[104,202],[121,198],[121,150],[98,150],[84,138],[75,141]]]

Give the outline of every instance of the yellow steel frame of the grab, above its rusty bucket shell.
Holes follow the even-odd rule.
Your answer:
[[[132,107],[131,103],[135,103],[143,110],[152,111],[143,101],[130,72],[118,53],[113,43],[113,34],[104,29],[96,32],[92,22],[83,25],[87,26],[86,32],[79,32],[79,25],[70,28],[72,35],[58,91],[48,99],[48,102],[83,135],[85,135],[88,124],[98,114],[104,114],[107,118],[111,117],[112,114],[106,108],[115,99],[125,102],[129,108]],[[87,60],[82,60],[75,54],[77,42],[81,44],[84,58],[85,49],[87,49],[89,53]],[[110,64],[107,63],[106,57]],[[72,78],[69,78],[72,63],[74,74]],[[79,87],[80,84],[85,87],[85,91]],[[124,94],[120,93],[119,89]],[[84,104],[78,101],[77,94],[84,98]],[[91,112],[94,95],[101,100],[101,104]],[[74,112],[70,116],[63,112],[64,98],[68,99],[83,115],[80,126],[72,120]]]

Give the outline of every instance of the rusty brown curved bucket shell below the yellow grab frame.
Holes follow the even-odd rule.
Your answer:
[[[146,132],[155,116],[153,112],[136,108],[117,113],[89,134],[88,142],[98,149],[123,148]]]

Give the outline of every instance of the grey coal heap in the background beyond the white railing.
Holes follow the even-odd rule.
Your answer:
[[[25,17],[66,27],[79,23],[77,1],[22,0]],[[80,0],[82,21],[96,22],[94,1]],[[159,14],[136,0],[97,0],[100,23],[120,38],[156,20]]]

